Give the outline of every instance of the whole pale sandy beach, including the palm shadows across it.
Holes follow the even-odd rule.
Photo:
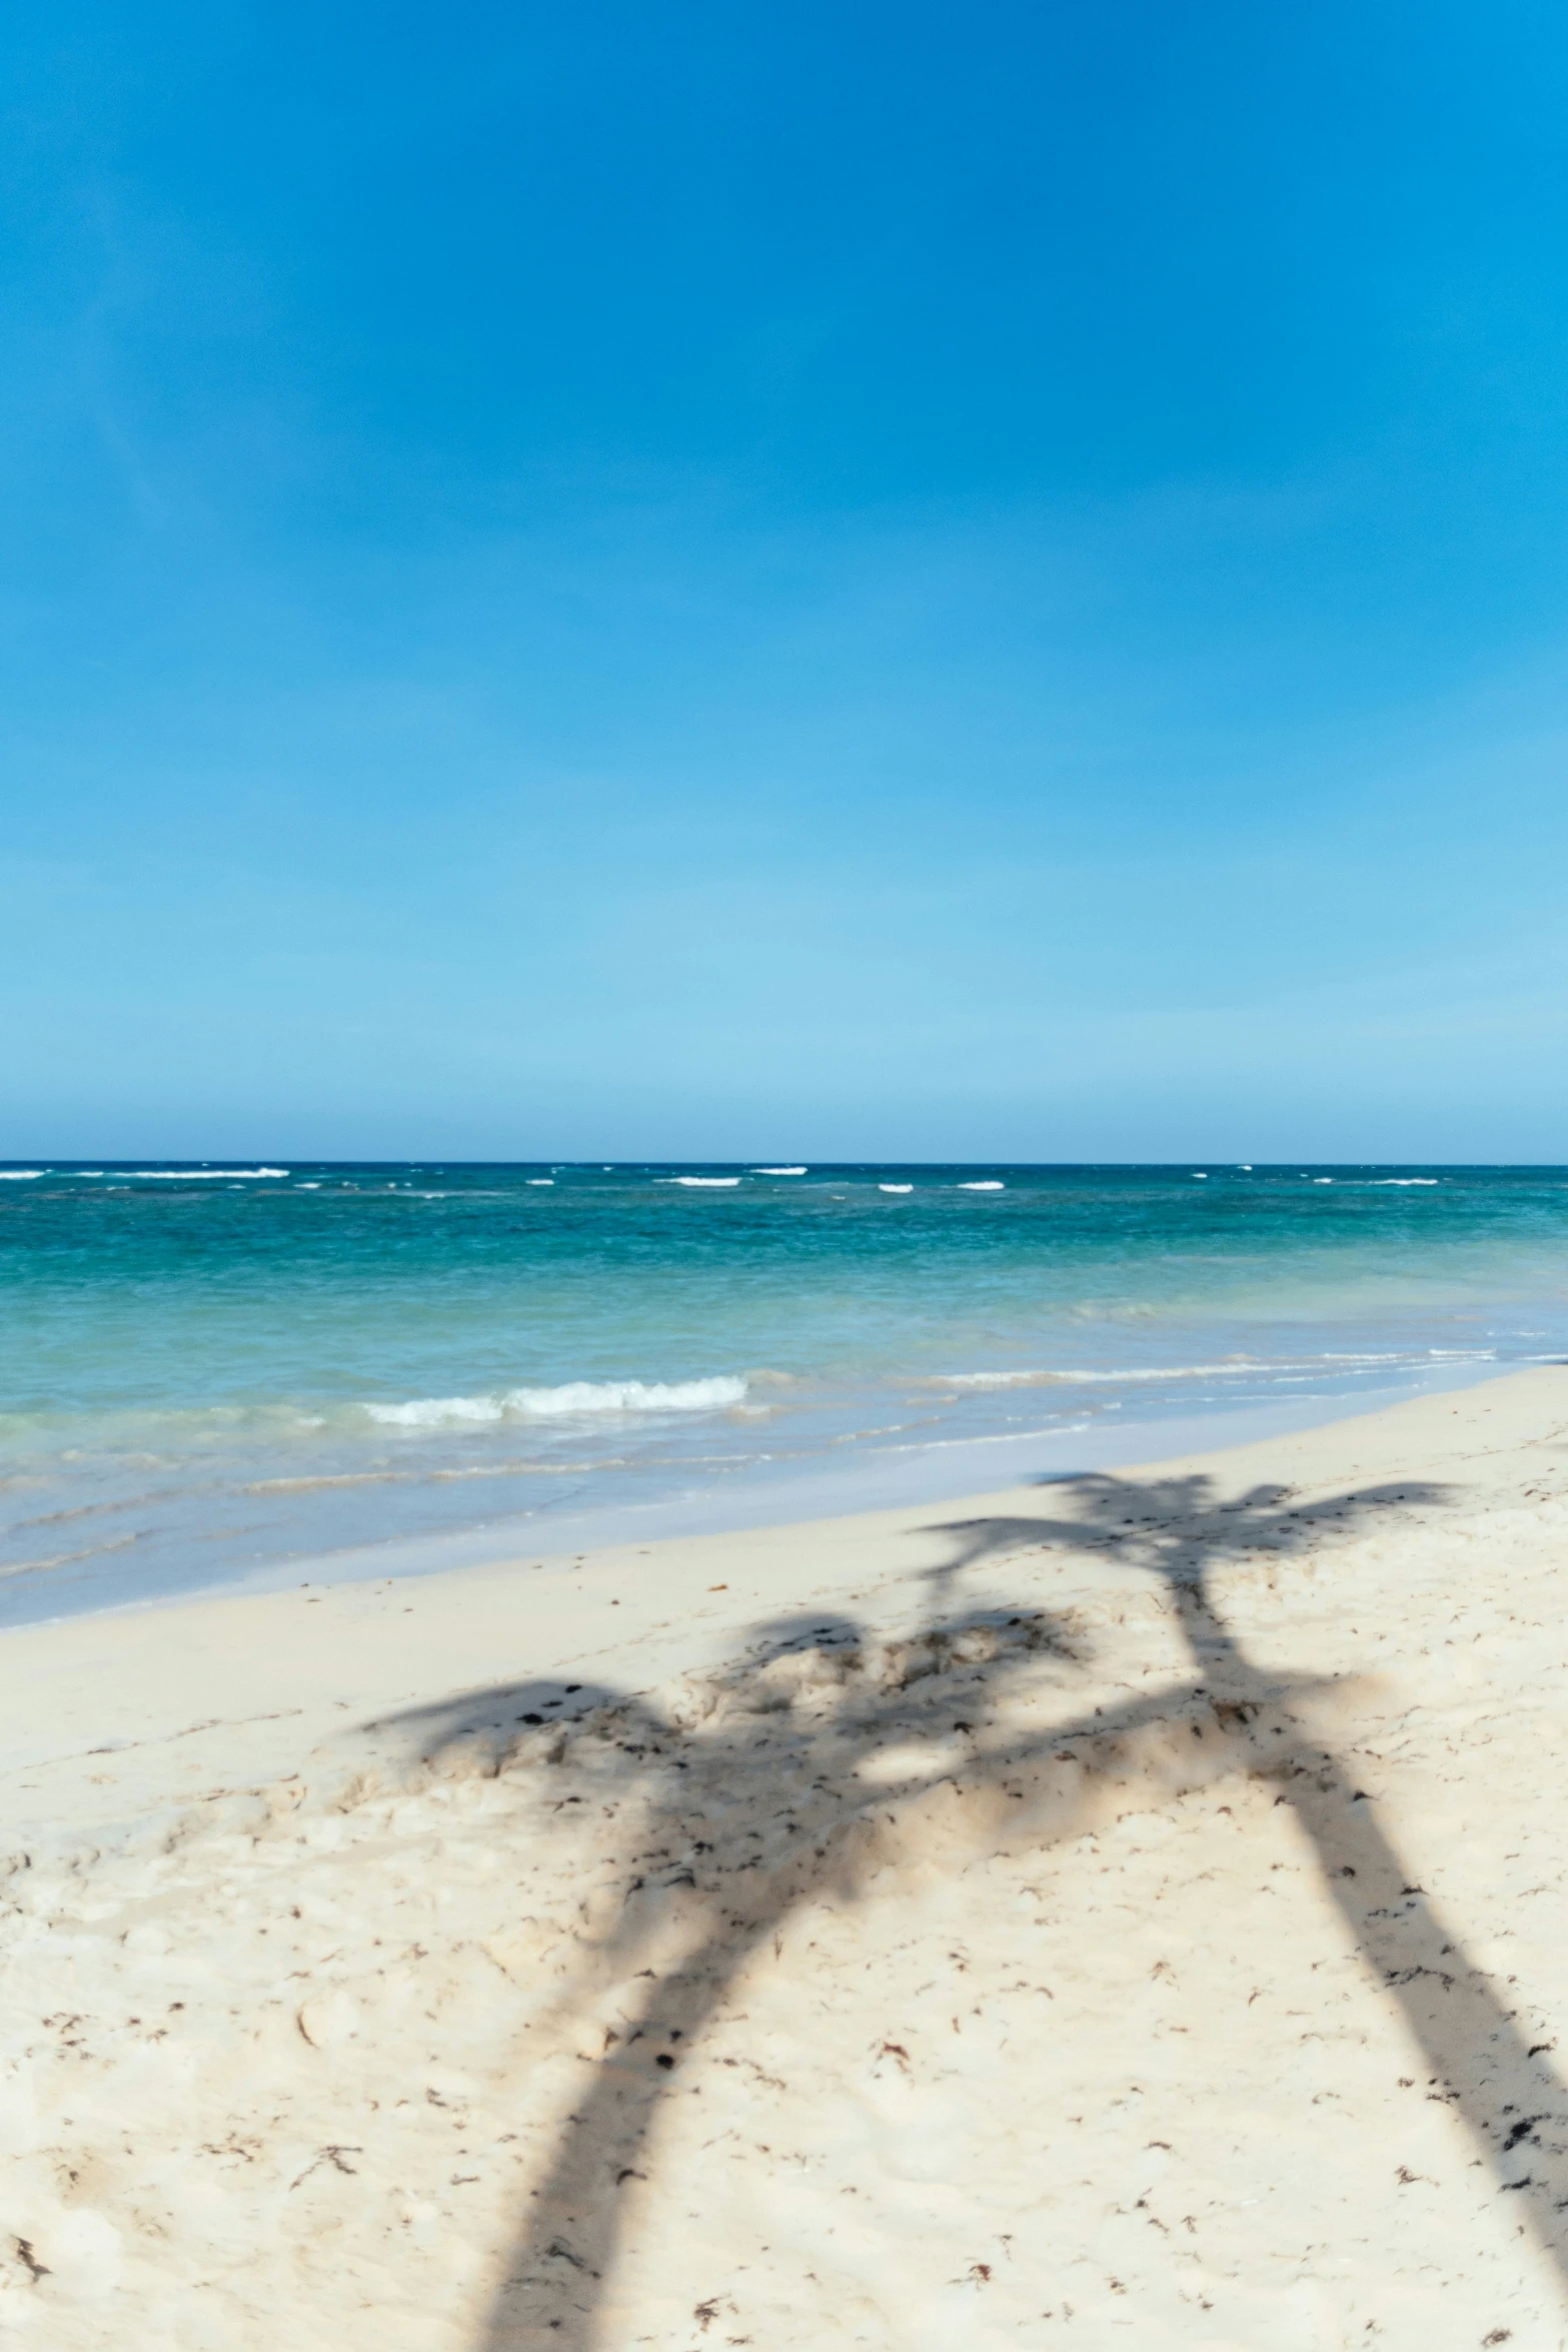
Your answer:
[[[0,2331],[1568,2345],[1568,1371],[0,1635]]]

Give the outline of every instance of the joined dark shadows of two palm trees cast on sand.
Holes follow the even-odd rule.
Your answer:
[[[1291,1555],[1326,1526],[1349,1531],[1392,1503],[1434,1501],[1436,1489],[1363,1489],[1309,1515],[1286,1510],[1279,1489],[1215,1501],[1199,1477],[1084,1477],[1058,1491],[1072,1515],[933,1529],[952,1552],[931,1576],[924,1625],[903,1642],[875,1644],[851,1618],[771,1625],[731,1677],[665,1708],[592,1693],[599,1705],[562,1736],[562,1773],[637,1799],[637,1870],[583,1976],[585,1987],[618,1983],[623,1999],[529,2197],[482,2352],[602,2345],[623,2213],[654,2166],[661,2107],[684,2089],[729,1990],[797,1905],[860,1896],[898,1858],[898,1823],[943,1783],[966,1799],[954,1867],[1020,1837],[1034,1846],[1077,1837],[1112,1785],[1093,1766],[1112,1762],[1119,1788],[1131,1773],[1166,1797],[1234,1773],[1276,1785],[1274,1802],[1295,1809],[1345,1924],[1425,2051],[1429,2096],[1455,2107],[1568,2277],[1568,2093],[1413,1884],[1375,1799],[1293,1715],[1316,1684],[1262,1672],[1213,1597],[1213,1569],[1227,1557]],[[1025,1677],[1070,1686],[1074,1628],[1025,1606],[954,1611],[952,1597],[983,1562],[1060,1545],[1157,1576],[1192,1675],[1009,1740],[997,1717]],[[473,1738],[512,1696],[475,1693],[449,1712],[437,1745]],[[1072,1757],[1091,1771],[1065,1773]]]

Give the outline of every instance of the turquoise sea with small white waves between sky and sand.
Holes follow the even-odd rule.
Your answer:
[[[52,1613],[1566,1355],[1568,1171],[40,1162],[0,1301],[5,1613]]]

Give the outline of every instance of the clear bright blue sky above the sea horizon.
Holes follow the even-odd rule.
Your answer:
[[[0,1155],[1568,1160],[1561,7],[0,103]]]

